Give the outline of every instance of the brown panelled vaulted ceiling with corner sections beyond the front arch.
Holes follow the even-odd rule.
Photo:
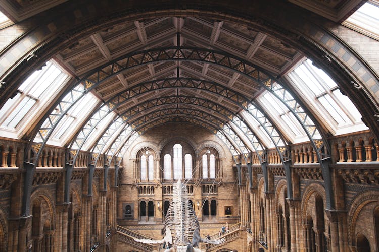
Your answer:
[[[338,22],[362,4],[289,2]],[[19,22],[72,3],[6,0],[1,7]],[[265,90],[265,81],[286,74],[304,56],[254,27],[170,15],[115,22],[78,37],[53,59],[133,128],[182,121],[216,131]]]

